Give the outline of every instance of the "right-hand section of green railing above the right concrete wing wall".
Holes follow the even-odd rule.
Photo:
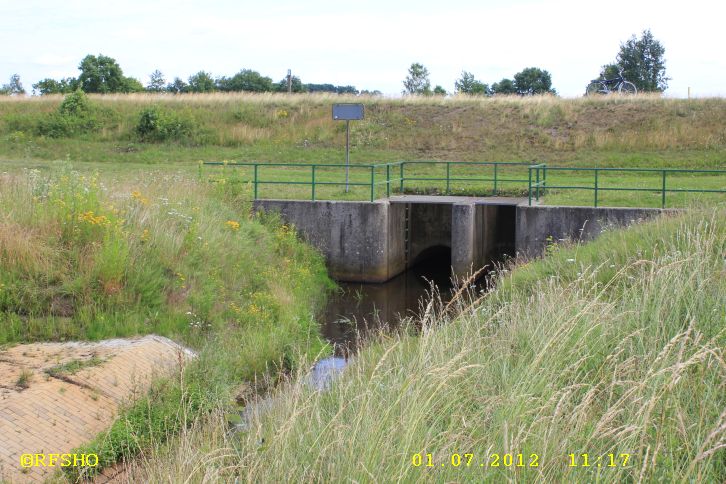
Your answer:
[[[592,173],[592,185],[553,185],[547,183],[547,172],[581,172]],[[623,186],[602,186],[600,182],[600,174],[612,173],[643,173],[655,176],[659,180],[659,185],[653,187],[623,187]],[[689,170],[685,168],[584,168],[584,167],[557,167],[547,166],[546,164],[531,165],[529,167],[529,205],[532,200],[539,201],[540,195],[546,190],[592,190],[594,194],[593,206],[597,207],[600,202],[600,194],[602,192],[619,191],[619,192],[651,192],[660,193],[661,208],[666,207],[667,193],[726,193],[726,189],[709,189],[709,188],[669,188],[667,185],[668,175],[686,174],[686,175],[726,175],[726,170]]]

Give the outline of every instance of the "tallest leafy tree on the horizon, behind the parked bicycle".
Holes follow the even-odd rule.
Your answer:
[[[663,45],[650,30],[644,30],[639,39],[633,35],[620,44],[616,63],[623,70],[623,77],[635,84],[638,91],[663,92],[670,80],[665,73],[664,55]]]

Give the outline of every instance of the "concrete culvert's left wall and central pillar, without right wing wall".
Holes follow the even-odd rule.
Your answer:
[[[496,207],[471,201],[257,200],[254,207],[278,212],[295,225],[325,256],[331,277],[340,281],[387,281],[433,247],[449,248],[454,271],[466,274],[483,266],[496,248],[497,236],[491,233],[496,229]]]

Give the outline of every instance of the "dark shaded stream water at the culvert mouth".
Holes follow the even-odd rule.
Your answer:
[[[320,316],[323,335],[336,346],[336,354],[345,355],[355,349],[358,333],[394,328],[401,319],[415,316],[428,300],[432,282],[447,299],[450,264],[449,257],[435,257],[382,284],[339,283],[341,292]]]

